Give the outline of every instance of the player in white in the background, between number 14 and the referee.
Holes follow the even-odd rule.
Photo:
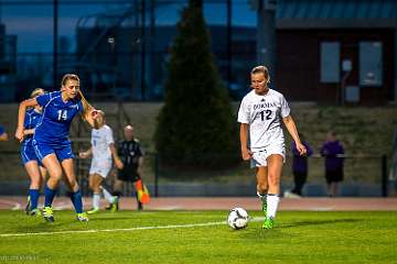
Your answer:
[[[100,110],[97,112],[97,118],[94,120],[95,128],[92,131],[92,147],[86,152],[79,153],[81,158],[93,156],[88,179],[89,188],[93,190],[93,209],[87,211],[87,213],[96,213],[99,211],[100,191],[104,193],[105,199],[112,205],[111,211],[117,210],[117,208],[114,207],[117,207],[118,198],[111,196],[101,184],[112,167],[111,157],[117,168],[121,169],[124,167],[124,164],[117,155],[112,131],[106,124],[105,113]]]

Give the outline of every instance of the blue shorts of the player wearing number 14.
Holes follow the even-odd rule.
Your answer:
[[[35,140],[33,140],[32,144],[40,162],[43,162],[43,158],[52,153],[56,155],[58,162],[67,158],[74,158],[71,144],[50,145],[39,143]]]

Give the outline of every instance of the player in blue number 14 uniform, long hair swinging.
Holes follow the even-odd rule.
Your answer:
[[[83,211],[83,200],[73,164],[73,152],[68,140],[73,118],[81,113],[94,127],[96,110],[84,99],[79,90],[77,75],[67,74],[62,78],[61,91],[54,91],[24,100],[20,103],[15,138],[23,140],[23,123],[28,107],[43,107],[43,116],[35,128],[33,146],[39,160],[49,170],[50,177],[44,188],[45,200],[43,217],[53,222],[52,202],[56,188],[65,173],[65,182],[71,189],[71,199],[75,207],[78,221],[88,221]]]

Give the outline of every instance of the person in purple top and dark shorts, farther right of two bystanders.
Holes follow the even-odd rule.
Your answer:
[[[344,148],[336,140],[334,131],[326,134],[326,141],[320,150],[320,154],[325,157],[325,179],[328,195],[334,197],[337,194],[339,183],[343,180],[343,154]]]

